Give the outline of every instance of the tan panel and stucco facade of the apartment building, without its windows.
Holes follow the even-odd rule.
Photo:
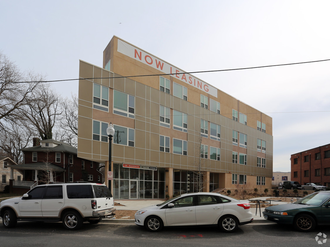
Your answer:
[[[118,40],[120,44],[133,47],[135,53],[127,56],[118,51]],[[141,51],[142,53],[139,53]],[[140,54],[147,55],[145,57],[142,55],[140,60]],[[202,170],[206,171],[206,177],[210,174],[216,177],[214,179],[218,181],[219,188],[234,188],[236,184],[235,181],[232,181],[233,174],[238,177],[237,184],[240,175],[241,177],[246,176],[244,182],[251,184],[251,188],[254,188],[257,187],[257,177],[260,177],[260,186],[261,183],[264,183],[261,187],[270,188],[273,176],[272,118],[219,89],[213,90],[212,95],[208,94],[203,89],[212,88],[212,86],[201,80],[200,84],[196,84],[197,87],[190,85],[189,80],[187,83],[184,82],[184,79],[190,76],[189,74],[160,76],[159,74],[164,74],[166,71],[155,69],[149,66],[149,63],[161,61],[171,69],[172,65],[155,58],[146,51],[114,36],[103,53],[103,67],[107,67],[106,69],[80,61],[78,156],[98,162],[108,161],[109,143],[106,134],[102,135],[101,132],[105,124],[112,122],[115,129],[118,126],[117,129],[134,132],[133,141],[130,141],[128,137],[130,145],[121,145],[116,142],[122,140],[114,140],[113,163],[121,166],[124,163],[164,168],[166,193],[169,193],[170,196],[172,196],[174,179],[170,174],[171,171],[173,172],[173,169],[175,171],[196,171],[196,160],[199,162],[200,157],[200,144],[206,145],[205,149],[207,149],[207,158],[201,158]],[[173,66],[173,68],[175,67]],[[160,77],[169,80],[169,93],[160,90]],[[198,78],[197,80],[199,83]],[[202,83],[204,88],[201,86]],[[183,88],[183,91],[186,88],[186,95],[183,95],[182,98],[174,96],[174,85]],[[95,88],[99,87],[104,92],[108,90],[108,96],[105,99],[102,98],[103,96],[100,96],[100,99],[95,96],[95,91],[97,91]],[[101,94],[103,94],[102,90]],[[125,111],[118,108],[117,102],[114,103],[115,91],[116,94],[128,97],[128,108],[131,103],[130,99],[134,99],[134,113],[130,113],[128,110],[127,116],[123,116]],[[106,93],[104,94],[106,95]],[[201,95],[206,97],[205,103],[208,104],[208,109],[205,108],[205,104],[204,107],[201,106]],[[184,96],[186,96],[186,100]],[[213,103],[219,103],[219,112],[210,110],[211,100],[214,100]],[[97,102],[95,103],[95,101]],[[107,106],[105,106],[106,101],[108,101]],[[102,105],[103,103],[104,105]],[[169,123],[162,124],[160,119],[162,107],[169,109],[167,116]],[[233,110],[237,111],[236,121],[233,120]],[[183,127],[181,130],[174,127],[174,115],[177,115],[178,112],[186,116],[186,120],[183,118],[186,128]],[[246,124],[240,123],[239,117],[243,116],[240,113],[246,116]],[[131,117],[129,117],[130,114]],[[205,127],[207,132],[204,132],[203,137],[201,137],[201,119],[207,126]],[[265,131],[257,129],[257,121],[265,126]],[[97,134],[94,133],[97,132],[98,122],[100,122],[100,136],[103,141],[96,140]],[[169,126],[164,126],[167,124]],[[220,133],[217,132],[218,138],[216,135],[211,138],[211,124],[220,126]],[[233,130],[238,134],[236,144],[233,143]],[[246,135],[246,143],[243,141],[243,145],[240,145],[240,133]],[[169,139],[169,152],[160,151],[160,136]],[[183,146],[186,143],[186,154],[174,153],[174,150],[177,149],[177,143],[174,144],[174,141],[178,140],[183,141]],[[259,146],[258,148],[258,140],[260,142],[262,140],[265,147],[263,146],[261,149]],[[212,155],[211,147],[216,152],[219,149],[220,153]],[[233,162],[233,152],[237,152],[237,163]],[[240,164],[240,154],[241,157],[245,156],[245,164]],[[262,166],[260,164],[259,167],[257,157],[262,159],[265,164],[263,163]],[[208,184],[208,179],[206,180]],[[209,186],[205,186],[204,190],[208,191]]]

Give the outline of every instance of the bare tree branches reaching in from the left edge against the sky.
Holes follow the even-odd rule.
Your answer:
[[[14,62],[0,52],[0,128],[7,119],[20,118],[19,109],[34,101],[33,93],[40,88],[42,80],[42,75],[19,71]]]

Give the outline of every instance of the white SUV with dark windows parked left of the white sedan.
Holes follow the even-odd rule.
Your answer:
[[[83,221],[97,224],[115,211],[108,187],[87,182],[38,185],[22,197],[0,203],[5,228],[15,227],[17,221],[62,221],[66,229],[77,230]]]

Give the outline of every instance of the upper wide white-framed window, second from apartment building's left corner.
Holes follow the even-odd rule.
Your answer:
[[[114,114],[134,118],[134,96],[114,90]]]

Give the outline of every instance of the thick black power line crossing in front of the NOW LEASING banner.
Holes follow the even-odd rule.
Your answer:
[[[7,83],[60,82],[60,81],[75,81],[75,80],[90,80],[90,79],[115,79],[115,78],[142,77],[142,76],[160,76],[160,75],[194,74],[194,73],[221,72],[221,71],[242,70],[242,69],[259,69],[259,68],[267,68],[267,67],[287,66],[287,65],[295,65],[295,64],[308,64],[308,63],[325,62],[325,61],[330,61],[330,59],[317,60],[317,61],[309,61],[309,62],[300,62],[300,63],[290,63],[290,64],[265,65],[265,66],[247,67],[247,68],[239,68],[239,69],[218,69],[218,70],[205,70],[205,71],[194,71],[194,72],[181,72],[181,73],[171,73],[171,74],[151,74],[151,75],[132,75],[132,76],[114,76],[114,77],[92,77],[92,78],[79,78],[79,79],[53,80],[53,81],[23,81],[23,82],[7,82]],[[4,83],[4,82],[2,82],[2,83]]]

